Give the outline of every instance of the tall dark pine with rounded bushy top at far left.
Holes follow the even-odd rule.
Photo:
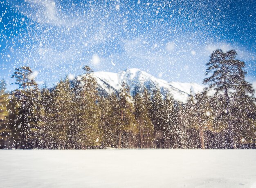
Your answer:
[[[40,91],[32,73],[30,67],[22,66],[12,75],[19,86],[11,97],[12,104],[18,107],[14,124],[18,134],[16,147],[23,149],[37,148],[40,133]]]

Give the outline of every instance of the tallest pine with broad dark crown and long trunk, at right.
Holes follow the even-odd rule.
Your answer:
[[[244,97],[248,93],[254,93],[252,85],[245,81],[245,75],[247,74],[243,70],[245,62],[236,60],[236,55],[236,51],[234,50],[228,51],[227,53],[222,52],[222,50],[214,51],[211,54],[210,61],[206,64],[208,66],[206,75],[211,73],[211,76],[205,78],[203,82],[209,85],[209,89],[216,91],[216,97],[223,95],[222,103],[225,107],[222,111],[226,111],[225,116],[229,136],[228,148],[236,148],[231,106],[233,101],[239,100],[239,98],[232,99],[231,96],[234,95],[234,93],[239,93],[240,97]]]

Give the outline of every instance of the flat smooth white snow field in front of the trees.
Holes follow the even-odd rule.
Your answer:
[[[256,188],[256,150],[1,150],[0,187]]]

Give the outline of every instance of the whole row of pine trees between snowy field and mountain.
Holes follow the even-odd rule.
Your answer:
[[[0,82],[0,148],[255,148],[256,101],[245,63],[234,50],[216,50],[206,65],[204,91],[185,104],[157,88],[131,96],[125,83],[100,95],[88,66],[80,79],[52,88],[39,88],[30,67],[16,68],[16,90]]]

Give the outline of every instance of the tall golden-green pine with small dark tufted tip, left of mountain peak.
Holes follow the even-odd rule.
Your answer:
[[[99,108],[99,95],[97,82],[90,75],[92,70],[85,66],[85,75],[79,82],[79,95],[76,99],[77,110],[75,111],[77,139],[81,148],[102,147],[103,133],[101,127],[101,111]]]

